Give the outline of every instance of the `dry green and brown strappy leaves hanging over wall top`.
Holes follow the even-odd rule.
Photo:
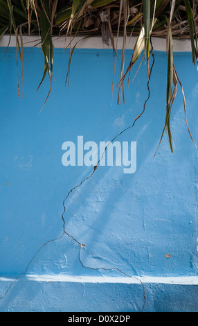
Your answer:
[[[198,60],[198,0],[0,0],[0,37],[16,36],[17,40],[17,76],[18,55],[23,75],[23,35],[39,35],[44,55],[44,74],[53,80],[53,35],[70,40],[76,35],[84,37],[101,35],[105,44],[111,45],[116,67],[118,37],[123,36],[123,52],[121,59],[120,81],[118,88],[118,104],[120,99],[125,103],[124,80],[141,53],[147,61],[148,78],[151,37],[164,37],[167,42],[167,85],[166,116],[163,132],[167,131],[170,149],[172,135],[170,130],[170,113],[177,95],[179,83],[183,94],[183,106],[186,117],[186,100],[181,81],[177,75],[173,60],[173,39],[189,39],[192,49],[192,63]],[[136,44],[129,67],[125,69],[125,49],[127,35],[136,35]],[[8,44],[9,46],[9,44]],[[71,57],[66,80],[69,78]],[[19,54],[18,54],[19,53]],[[19,85],[19,77],[18,77]],[[113,78],[114,85],[114,78]],[[51,87],[48,96],[51,93]],[[38,87],[39,88],[39,87]],[[113,88],[113,86],[112,86]],[[18,86],[19,92],[19,86]],[[46,98],[46,101],[48,99]],[[46,103],[46,102],[45,102]],[[188,122],[186,118],[186,124]],[[188,128],[190,134],[190,130]],[[190,134],[192,139],[192,135]],[[193,139],[192,139],[193,141]],[[160,141],[161,142],[161,141]]]

